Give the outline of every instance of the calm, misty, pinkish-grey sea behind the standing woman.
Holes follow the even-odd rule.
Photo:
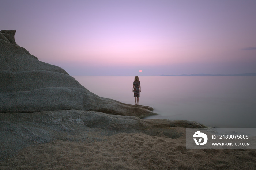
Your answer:
[[[73,76],[91,92],[135,104],[134,76]],[[256,76],[139,76],[147,119],[190,120],[219,128],[256,128]]]

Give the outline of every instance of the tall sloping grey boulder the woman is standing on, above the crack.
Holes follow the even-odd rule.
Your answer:
[[[102,98],[60,67],[39,61],[15,42],[15,30],[0,31],[0,112],[87,110],[145,117],[153,108]]]

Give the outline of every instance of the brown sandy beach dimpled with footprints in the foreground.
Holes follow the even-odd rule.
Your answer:
[[[185,128],[175,127],[185,134]],[[120,133],[101,142],[55,140],[24,148],[0,169],[256,169],[256,150],[186,149],[177,138]]]

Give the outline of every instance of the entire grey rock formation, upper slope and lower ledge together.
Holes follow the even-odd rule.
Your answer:
[[[189,121],[139,119],[155,114],[153,108],[91,93],[65,70],[19,47],[15,32],[0,31],[0,161],[22,148],[57,139],[92,142],[120,132],[178,138],[182,134],[174,126],[203,127]]]

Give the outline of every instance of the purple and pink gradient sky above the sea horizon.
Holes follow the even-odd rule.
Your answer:
[[[256,73],[255,0],[5,0],[0,14],[70,75]]]

